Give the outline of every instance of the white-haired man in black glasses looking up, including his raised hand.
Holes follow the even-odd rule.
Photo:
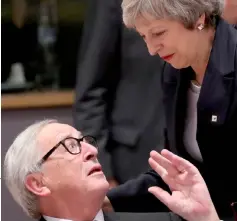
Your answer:
[[[4,163],[6,184],[16,202],[41,221],[168,221],[174,214],[103,214],[109,184],[97,160],[94,137],[55,120],[35,123],[9,148]],[[188,161],[164,150],[152,151],[149,163],[173,191],[149,192],[188,221],[219,221],[206,184]]]

